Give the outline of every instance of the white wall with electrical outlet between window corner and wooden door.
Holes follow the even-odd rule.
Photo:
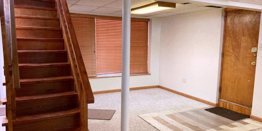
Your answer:
[[[217,103],[222,10],[162,18],[159,85]]]

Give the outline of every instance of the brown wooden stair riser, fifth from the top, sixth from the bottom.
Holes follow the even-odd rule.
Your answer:
[[[18,50],[64,50],[63,41],[17,41]]]

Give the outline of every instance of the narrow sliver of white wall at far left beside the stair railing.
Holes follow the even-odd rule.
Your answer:
[[[1,29],[1,24],[0,24]],[[3,55],[3,43],[2,43],[2,33],[0,30],[0,100],[6,96],[5,86],[3,86],[2,82],[5,80],[4,77],[4,55]]]

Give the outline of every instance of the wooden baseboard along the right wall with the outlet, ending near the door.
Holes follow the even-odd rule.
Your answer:
[[[193,100],[196,100],[196,101],[199,101],[199,102],[202,102],[202,103],[205,103],[205,104],[214,106],[214,107],[217,107],[217,106],[218,106],[218,103],[216,104],[216,103],[213,103],[213,102],[209,102],[209,101],[206,101],[206,100],[203,100],[203,99],[194,97],[194,96],[190,96],[190,95],[188,95],[188,94],[185,94],[185,93],[182,93],[182,92],[179,92],[179,91],[175,91],[175,90],[172,90],[172,89],[169,89],[169,88],[160,86],[160,85],[158,86],[158,88],[161,88],[161,89],[163,89],[163,90],[176,93],[176,94],[181,95],[181,96],[185,96],[185,97],[187,97],[187,98],[190,98],[190,99],[193,99]]]

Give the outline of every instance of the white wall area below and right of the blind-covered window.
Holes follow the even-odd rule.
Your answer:
[[[160,20],[160,18],[150,20],[152,26],[149,30],[152,29],[152,35],[149,37],[149,73],[151,75],[130,76],[130,87],[159,85]],[[93,91],[121,89],[121,77],[93,78],[89,81]]]

